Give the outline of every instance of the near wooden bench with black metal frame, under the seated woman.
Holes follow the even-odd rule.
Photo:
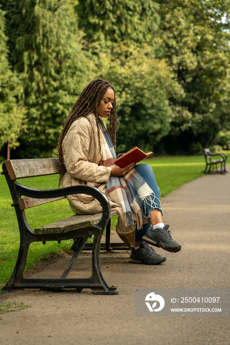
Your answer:
[[[17,180],[25,177],[58,174],[59,166],[56,158],[9,160],[3,163],[2,173],[5,175],[12,196],[20,231],[20,248],[17,262],[7,284],[2,291],[15,288],[51,288],[76,289],[90,288],[95,294],[117,294],[116,287],[109,287],[104,280],[100,268],[100,250],[128,249],[124,243],[110,243],[111,217],[117,212],[110,208],[107,197],[97,188],[85,185],[66,188],[36,190],[20,184]],[[96,198],[102,213],[94,215],[73,215],[51,224],[32,229],[27,222],[25,210],[41,204],[55,202],[71,194],[88,194]],[[58,209],[58,208],[57,208]],[[106,229],[106,243],[101,245],[101,239]],[[93,243],[86,243],[93,236]],[[66,241],[72,239],[75,250],[72,258],[60,278],[32,279],[23,277],[29,245],[32,242]],[[82,249],[92,250],[92,276],[90,278],[67,278]]]

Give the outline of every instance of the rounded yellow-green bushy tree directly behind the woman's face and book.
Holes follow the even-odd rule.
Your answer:
[[[165,61],[151,59],[149,47],[135,48],[129,58],[116,59],[103,78],[115,87],[117,114],[117,152],[138,146],[144,151],[157,150],[160,138],[168,134],[171,109],[168,95],[181,95]]]

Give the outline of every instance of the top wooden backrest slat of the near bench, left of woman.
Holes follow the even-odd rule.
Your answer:
[[[5,162],[10,179],[59,173],[57,158],[13,159]]]

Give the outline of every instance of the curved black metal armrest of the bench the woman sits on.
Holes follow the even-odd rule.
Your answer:
[[[47,199],[47,198],[58,198],[72,194],[88,194],[96,198],[102,206],[102,218],[96,225],[101,231],[103,231],[110,219],[111,207],[108,198],[97,188],[91,186],[70,186],[65,188],[57,189],[33,189],[14,181],[14,185],[17,190],[18,197],[22,195],[25,197],[31,197],[35,199]]]

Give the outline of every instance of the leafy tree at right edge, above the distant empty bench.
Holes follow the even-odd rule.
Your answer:
[[[192,150],[196,143],[209,145],[230,122],[230,2],[158,2],[164,57],[185,95],[180,102],[170,99],[167,148]]]

